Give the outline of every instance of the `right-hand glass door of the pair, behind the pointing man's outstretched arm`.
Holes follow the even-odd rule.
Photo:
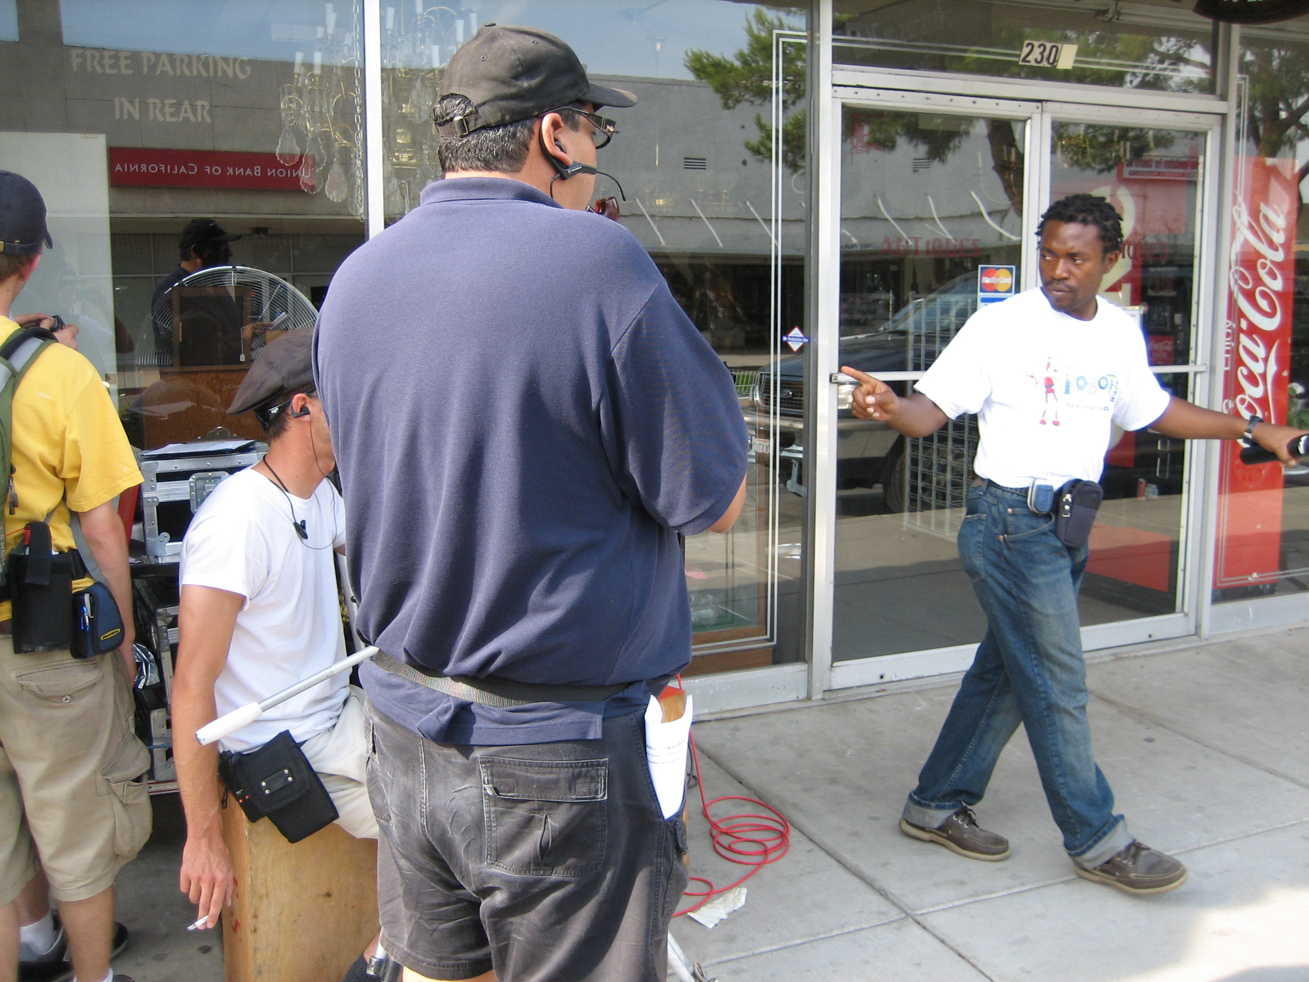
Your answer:
[[[1101,296],[1140,325],[1160,384],[1195,399],[1206,371],[1198,357],[1204,350],[1198,325],[1207,319],[1200,306],[1210,301],[1196,288],[1204,283],[1202,261],[1210,259],[1202,247],[1207,120],[1158,127],[1151,124],[1157,114],[1096,119],[1085,109],[1051,110],[1047,200],[1094,194],[1123,216],[1126,247]],[[1194,448],[1139,431],[1122,433],[1105,457],[1105,503],[1092,532],[1081,615],[1084,627],[1106,627],[1085,632],[1088,647],[1143,640],[1139,628],[1124,634],[1107,626],[1178,615],[1189,606],[1182,571]],[[1177,627],[1190,630],[1189,623],[1182,618]]]

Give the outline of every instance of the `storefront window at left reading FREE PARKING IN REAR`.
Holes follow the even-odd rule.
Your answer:
[[[79,325],[137,448],[260,436],[225,407],[267,340],[313,325],[364,237],[361,4],[18,13],[0,158],[41,189],[55,247],[16,312]]]

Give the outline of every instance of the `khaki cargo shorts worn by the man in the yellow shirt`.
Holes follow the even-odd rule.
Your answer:
[[[0,905],[37,872],[55,900],[111,886],[151,834],[151,757],[115,651],[16,655],[0,635]]]

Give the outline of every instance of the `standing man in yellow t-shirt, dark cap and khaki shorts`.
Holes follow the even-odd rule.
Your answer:
[[[41,194],[0,172],[0,344],[20,330],[10,306],[43,244],[51,240]],[[77,512],[126,636],[119,652],[86,660],[68,651],[17,653],[9,600],[0,604],[0,982],[14,978],[18,962],[14,901],[45,893],[42,868],[76,982],[113,982],[114,877],[151,830],[149,753],[132,729],[127,537],[115,504],[141,474],[96,369],[63,344],[41,352],[22,377],[12,432],[16,501],[4,509],[5,555],[29,522],[47,516],[55,551],[73,550],[69,511]]]

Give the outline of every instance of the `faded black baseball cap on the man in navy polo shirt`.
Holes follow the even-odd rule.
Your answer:
[[[463,96],[473,111],[441,120],[441,136],[467,136],[487,126],[531,119],[571,102],[627,109],[636,97],[593,85],[576,52],[538,27],[486,24],[450,58],[441,75],[444,96]]]

